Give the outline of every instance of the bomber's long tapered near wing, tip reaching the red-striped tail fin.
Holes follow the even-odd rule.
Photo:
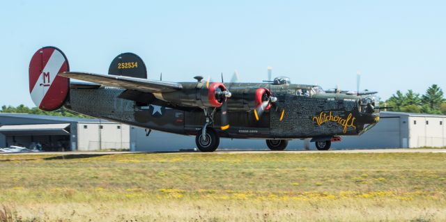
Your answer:
[[[114,86],[144,93],[169,93],[183,88],[181,84],[169,81],[156,81],[134,77],[115,76],[111,74],[94,74],[87,72],[61,72],[61,77],[90,81],[95,84]]]

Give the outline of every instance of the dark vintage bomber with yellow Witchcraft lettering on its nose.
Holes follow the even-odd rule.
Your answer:
[[[311,138],[318,150],[328,150],[341,136],[360,135],[379,120],[376,92],[329,93],[320,86],[291,84],[286,77],[261,83],[236,79],[234,74],[229,82],[201,76],[190,82],[149,80],[146,65],[132,53],[116,56],[108,74],[71,72],[56,47],[38,49],[29,64],[29,92],[40,109],[64,106],[96,118],[195,136],[202,152],[215,151],[220,137],[263,138],[270,150]]]

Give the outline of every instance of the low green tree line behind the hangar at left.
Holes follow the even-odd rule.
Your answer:
[[[86,116],[80,113],[69,111],[61,107],[61,109],[56,109],[55,111],[43,111],[38,109],[38,107],[29,108],[24,104],[19,106],[1,106],[0,113],[29,113],[29,114],[40,114],[48,116],[66,116],[66,117],[76,117],[76,118],[92,118],[91,116]]]

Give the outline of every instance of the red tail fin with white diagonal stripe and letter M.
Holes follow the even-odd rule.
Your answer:
[[[29,63],[29,93],[39,109],[53,111],[61,108],[66,100],[70,79],[58,77],[68,72],[68,60],[60,49],[38,49]]]

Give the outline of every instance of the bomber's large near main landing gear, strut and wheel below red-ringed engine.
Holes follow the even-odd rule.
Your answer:
[[[220,144],[220,136],[218,136],[214,129],[208,127],[208,125],[212,125],[214,122],[215,110],[215,108],[203,109],[204,116],[206,116],[206,123],[197,132],[197,136],[195,137],[195,143],[197,143],[197,148],[201,152],[214,152]]]

